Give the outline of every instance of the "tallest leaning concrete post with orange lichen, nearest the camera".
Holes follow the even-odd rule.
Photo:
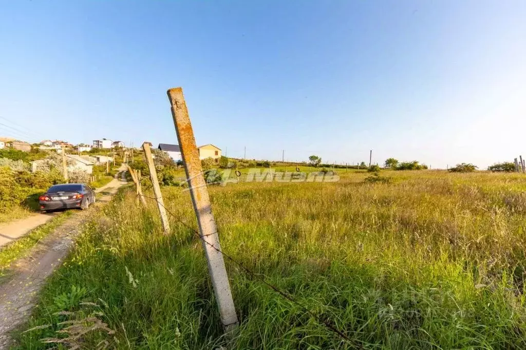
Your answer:
[[[203,176],[203,168],[201,168],[201,161],[197,152],[194,131],[192,130],[183,96],[183,89],[174,88],[168,90],[168,98],[171,104],[171,114],[174,118],[177,140],[183,156],[188,188],[197,217],[199,234],[203,241],[203,249],[208,261],[208,271],[214,287],[217,306],[219,307],[221,323],[225,332],[230,332],[238,325],[236,309],[230,291],[230,284],[228,283],[216,221],[212,213],[205,177]]]

